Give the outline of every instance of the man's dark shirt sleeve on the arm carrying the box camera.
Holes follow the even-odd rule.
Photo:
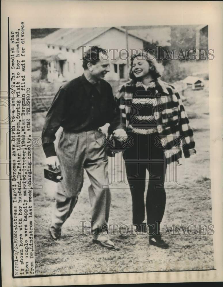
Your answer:
[[[43,151],[46,157],[56,156],[54,148],[55,133],[59,129],[64,113],[65,90],[60,88],[47,112],[42,132]]]

